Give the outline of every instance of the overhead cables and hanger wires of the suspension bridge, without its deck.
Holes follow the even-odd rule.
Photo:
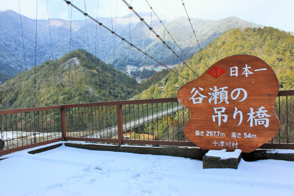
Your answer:
[[[72,71],[74,71],[73,69],[71,69],[71,57],[72,57],[72,51],[73,51],[73,35],[72,33],[74,32],[74,30],[72,30],[72,11],[73,9],[76,9],[77,11],[79,11],[82,15],[85,16],[85,21],[86,21],[86,33],[85,33],[85,36],[87,37],[87,42],[88,42],[88,50],[89,52],[91,51],[91,48],[90,48],[90,39],[89,39],[89,30],[88,30],[88,19],[91,19],[92,21],[94,21],[96,23],[96,38],[95,38],[95,56],[97,55],[96,54],[96,48],[97,48],[97,31],[98,31],[98,26],[100,26],[100,29],[103,28],[105,30],[108,31],[108,33],[111,33],[113,35],[113,39],[114,39],[114,42],[113,42],[113,61],[114,61],[114,57],[115,57],[115,53],[116,53],[116,42],[115,42],[115,38],[119,38],[120,40],[122,40],[122,42],[128,44],[128,47],[131,47],[131,48],[134,48],[136,51],[138,51],[138,53],[142,53],[143,56],[145,57],[148,57],[150,58],[151,61],[154,61],[154,63],[156,63],[157,65],[160,65],[160,66],[163,66],[165,68],[167,68],[169,71],[177,74],[179,77],[181,77],[182,79],[185,79],[187,81],[189,81],[189,78],[187,76],[183,76],[183,74],[179,73],[176,69],[172,69],[170,67],[168,67],[167,65],[165,65],[163,62],[160,62],[160,60],[157,59],[156,56],[152,56],[151,53],[150,53],[150,50],[146,50],[146,45],[144,44],[145,47],[141,47],[141,36],[140,35],[140,46],[136,46],[136,44],[132,41],[132,35],[131,35],[131,31],[128,33],[129,36],[128,38],[126,37],[123,37],[122,35],[118,34],[116,32],[116,26],[115,28],[113,28],[113,19],[111,17],[111,27],[109,26],[106,26],[105,24],[103,24],[101,21],[98,21],[98,1],[97,1],[97,16],[94,17],[94,16],[91,16],[90,14],[88,14],[86,12],[86,0],[84,0],[84,9],[82,9],[81,7],[77,7],[75,6],[71,1],[67,1],[67,0],[63,0],[65,2],[65,5],[68,5],[68,8],[69,8],[69,22],[70,22],[70,42],[69,42],[69,82],[68,82],[68,104],[70,104],[70,98],[69,98],[69,95],[70,95],[70,74]],[[170,30],[168,30],[167,26],[165,26],[165,22],[163,22],[162,19],[160,19],[159,15],[154,11],[154,8],[150,5],[150,3],[146,0],[146,6],[148,5],[150,7],[150,9],[152,10],[151,12],[151,21],[150,21],[150,24],[145,20],[143,19],[143,17],[138,14],[138,11],[136,11],[136,7],[133,7],[131,3],[127,2],[126,0],[122,0],[122,2],[126,5],[125,8],[120,8],[120,9],[129,9],[130,11],[130,14],[131,12],[133,14],[135,14],[137,17],[138,17],[138,21],[141,22],[141,31],[142,31],[142,28],[144,28],[144,26],[146,26],[146,28],[150,31],[150,33],[152,33],[154,35],[154,37],[156,38],[156,40],[160,41],[163,43],[163,46],[165,48],[167,48],[167,50],[169,51],[170,55],[174,55],[176,58],[178,58],[182,65],[183,66],[186,66],[189,68],[189,70],[191,70],[193,73],[194,73],[194,77],[195,76],[199,76],[199,73],[198,71],[195,69],[195,68],[192,68],[191,67],[191,62],[189,61],[187,55],[183,52],[183,49],[181,48],[180,44],[178,44],[176,41],[176,39],[174,38],[174,36],[172,36],[172,32]],[[181,4],[180,4],[181,2]],[[52,33],[51,33],[51,29],[50,29],[50,20],[49,20],[49,9],[48,9],[48,3],[46,1],[46,6],[47,6],[47,16],[48,16],[48,27],[49,27],[49,37],[50,37],[50,45],[51,45],[51,59],[53,60],[54,57],[53,57],[53,53],[54,53],[54,48],[52,47]],[[186,10],[186,7],[185,7],[185,4],[183,1],[179,1],[179,4],[178,6],[183,6],[183,8],[185,9],[185,13],[187,15],[187,20],[189,21],[189,23],[191,24],[191,29],[192,29],[192,32],[193,32],[193,35],[195,36],[195,39],[196,39],[196,42],[198,43],[198,46],[199,46],[199,50],[201,51],[201,47],[200,47],[200,44],[198,42],[198,39],[196,37],[196,33],[195,33],[195,30],[192,26],[192,23],[191,23],[191,19],[189,18],[188,16],[188,12]],[[70,10],[71,8],[71,10]],[[26,65],[26,54],[25,54],[25,44],[24,44],[24,32],[23,32],[23,27],[22,27],[22,16],[21,16],[21,6],[19,4],[19,12],[20,12],[20,24],[21,24],[21,35],[22,35],[22,42],[23,42],[23,46],[22,46],[22,49],[23,49],[23,53],[24,53],[24,63],[25,63],[25,67],[26,67],[26,83],[27,83],[27,92],[29,92],[29,78],[27,76],[27,65]],[[38,19],[38,1],[37,1],[37,12],[36,12],[36,19]],[[155,29],[153,29],[152,25],[151,25],[151,22],[152,22],[152,14],[153,16],[155,15],[156,18],[160,24],[162,25],[162,27],[164,28],[164,32],[163,33],[167,33],[167,35],[170,37],[170,39],[173,41],[173,44],[174,44],[174,47],[172,47],[171,45],[169,45],[169,43],[166,41],[167,38],[165,37],[165,35],[160,35],[159,33],[157,33],[155,31]],[[154,19],[153,19],[153,22],[154,22]],[[142,24],[144,25],[142,27]],[[28,97],[29,97],[29,105],[28,107],[31,107],[31,106],[38,106],[36,105],[36,103],[38,103],[38,100],[36,100],[36,86],[37,86],[37,80],[36,80],[36,51],[37,51],[37,20],[36,20],[36,32],[35,32],[36,36],[35,36],[35,68],[34,68],[34,93],[29,93],[28,94]],[[151,36],[151,34],[150,34]],[[101,42],[103,43],[103,39],[102,39],[102,31],[101,31]],[[175,50],[175,46],[177,48],[177,51]],[[103,46],[102,46],[103,47]],[[129,53],[129,50],[128,50],[128,53]],[[100,54],[101,55],[101,54]],[[169,54],[167,54],[169,55]],[[104,56],[104,54],[103,54]],[[128,54],[129,56],[129,54]],[[184,57],[184,58],[182,58]],[[203,59],[205,60],[205,57],[203,56]],[[205,61],[206,62],[206,61]],[[206,63],[207,65],[207,63]],[[57,83],[56,83],[56,70],[55,68],[53,67],[53,71],[54,71],[54,86],[55,86],[55,93],[56,93],[56,103],[59,104],[59,99],[61,96],[65,96],[65,95],[59,95],[59,91],[57,89]],[[32,101],[33,100],[33,101]]]

